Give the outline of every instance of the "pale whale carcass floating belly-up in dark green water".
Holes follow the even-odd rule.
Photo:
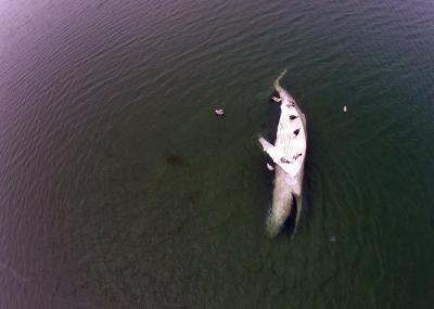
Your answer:
[[[267,218],[267,232],[271,237],[281,232],[292,211],[295,211],[295,232],[303,207],[302,191],[307,151],[307,123],[294,98],[280,86],[280,80],[285,73],[286,70],[283,70],[273,82],[281,99],[273,100],[276,104],[280,104],[276,142],[272,144],[259,136],[259,143],[264,152],[275,163],[272,204]]]

